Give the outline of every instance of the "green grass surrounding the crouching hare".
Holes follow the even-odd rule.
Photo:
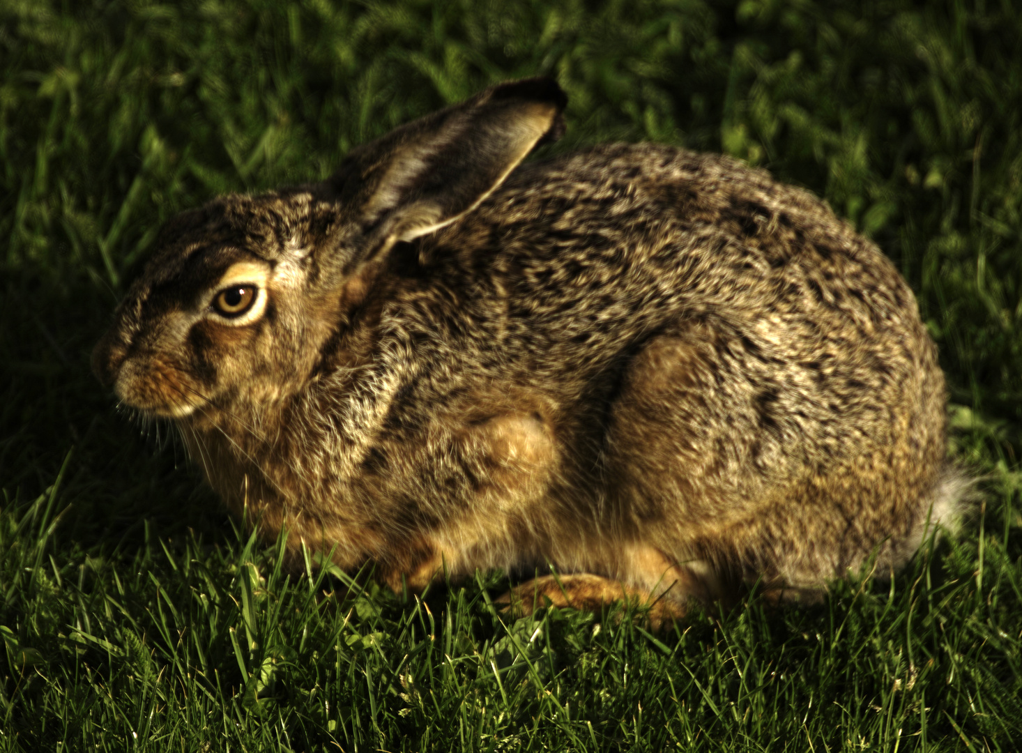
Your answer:
[[[0,4],[0,750],[1022,747],[1022,11],[966,0]],[[651,636],[279,569],[88,358],[158,225],[502,79],[558,149],[724,150],[917,291],[982,510],[890,583]]]

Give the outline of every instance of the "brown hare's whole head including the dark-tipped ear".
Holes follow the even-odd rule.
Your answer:
[[[178,216],[93,370],[123,403],[157,416],[286,397],[380,284],[390,248],[471,211],[560,135],[564,104],[550,80],[503,84],[355,149],[324,183]]]

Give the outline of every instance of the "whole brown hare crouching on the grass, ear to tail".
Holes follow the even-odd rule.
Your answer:
[[[814,599],[956,520],[945,386],[904,280],[804,190],[563,132],[548,79],[162,228],[93,354],[235,513],[396,591]],[[539,597],[539,599],[537,599]]]

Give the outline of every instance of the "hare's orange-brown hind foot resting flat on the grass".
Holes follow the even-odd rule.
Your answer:
[[[685,603],[669,595],[655,597],[650,592],[625,585],[600,575],[544,575],[515,586],[497,600],[497,605],[516,615],[532,614],[543,607],[571,607],[598,612],[605,605],[628,602],[648,607],[650,624],[659,629],[685,616]]]

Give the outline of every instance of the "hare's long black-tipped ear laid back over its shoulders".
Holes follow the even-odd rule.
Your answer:
[[[501,84],[352,151],[332,180],[365,232],[358,260],[471,211],[538,144],[560,138],[566,103],[550,79]]]

